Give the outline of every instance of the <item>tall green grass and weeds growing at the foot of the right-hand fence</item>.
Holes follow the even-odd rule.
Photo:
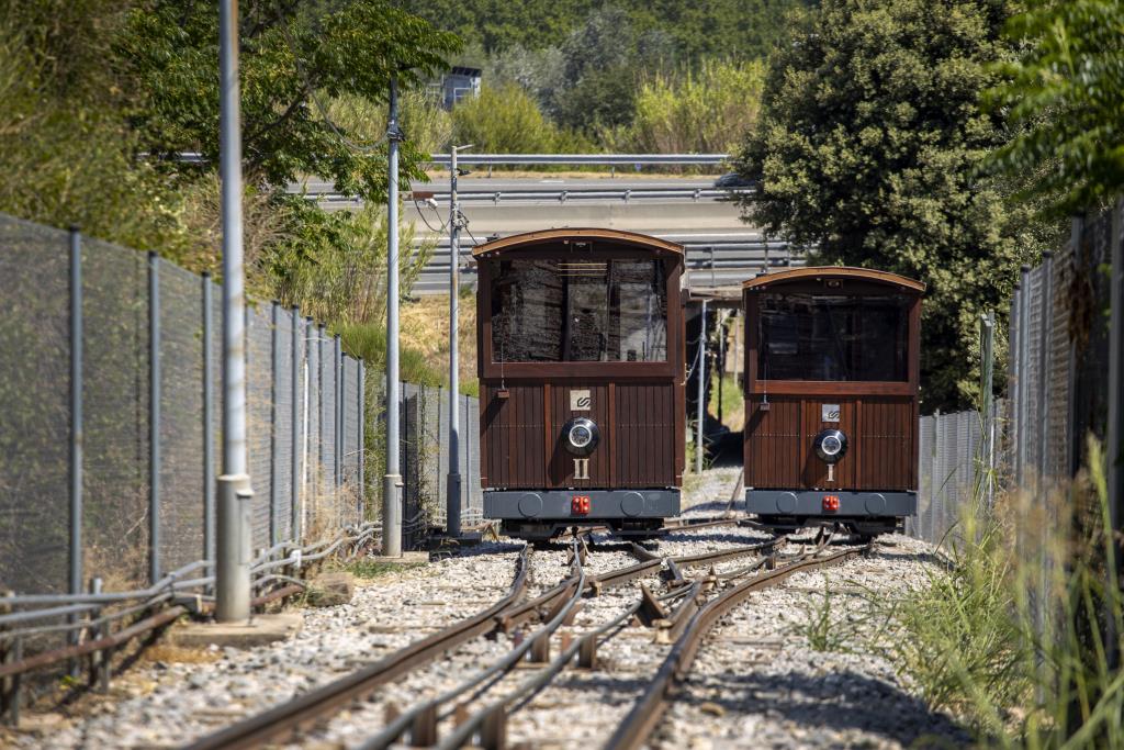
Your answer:
[[[870,599],[886,622],[870,648],[982,744],[1124,748],[1124,672],[1109,667],[1100,620],[1124,633],[1124,617],[1120,597],[1106,596],[1118,586],[1102,564],[1115,552],[1100,531],[1111,528],[1105,461],[1091,439],[1088,454],[1073,487],[1052,500],[1040,493],[1000,497],[997,513],[969,509],[960,521],[968,541],[926,588]],[[1099,527],[1076,543],[1067,523],[1075,507],[1100,513]]]

